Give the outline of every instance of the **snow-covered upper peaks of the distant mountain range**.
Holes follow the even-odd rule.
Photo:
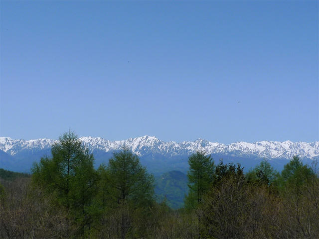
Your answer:
[[[157,153],[171,157],[176,155],[189,155],[197,150],[203,150],[206,154],[226,154],[231,156],[255,156],[260,158],[291,159],[294,155],[300,158],[315,158],[319,156],[319,141],[315,142],[291,142],[291,141],[260,141],[254,143],[236,142],[222,144],[209,142],[205,139],[197,139],[189,142],[163,142],[155,136],[142,136],[129,138],[121,141],[110,141],[101,137],[80,137],[80,140],[92,152],[101,150],[104,152],[114,151],[127,147],[139,156]],[[24,150],[50,149],[56,140],[53,139],[11,139],[0,137],[0,150],[14,156]]]

